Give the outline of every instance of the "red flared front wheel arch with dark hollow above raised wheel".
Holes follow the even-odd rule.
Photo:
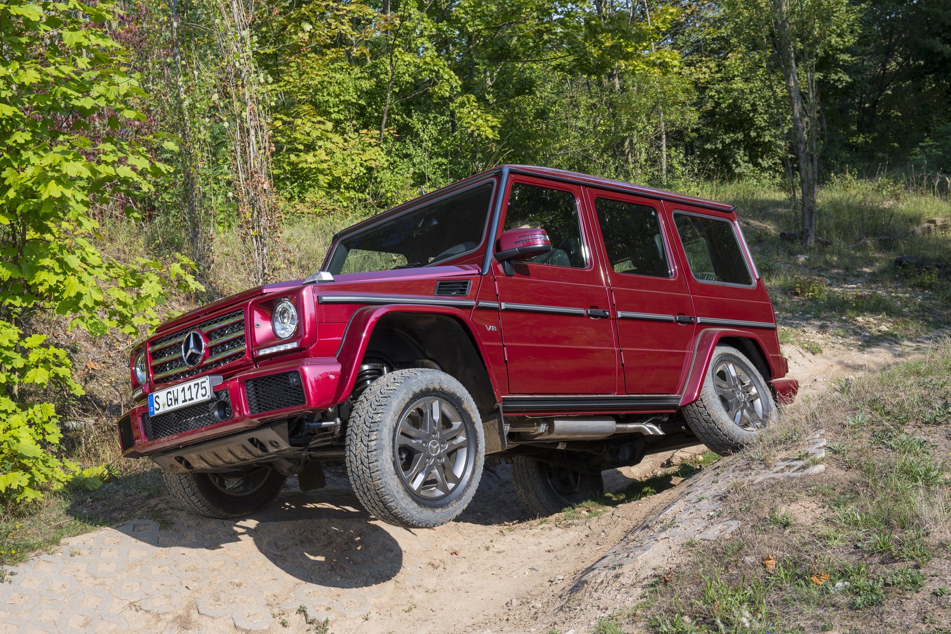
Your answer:
[[[359,309],[340,343],[338,402],[353,392],[360,362],[374,353],[396,362],[434,361],[472,395],[480,412],[491,412],[501,402],[473,323],[456,308],[400,304]]]

